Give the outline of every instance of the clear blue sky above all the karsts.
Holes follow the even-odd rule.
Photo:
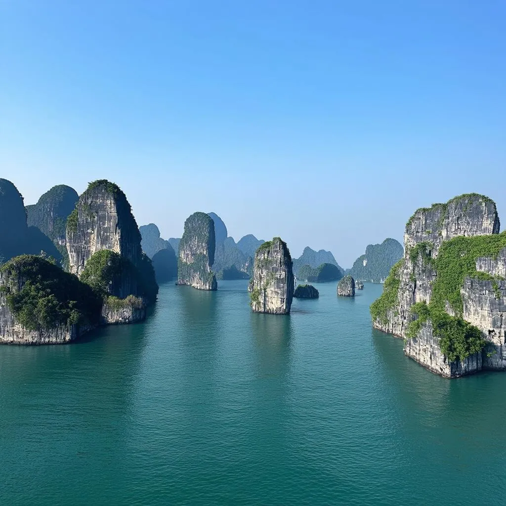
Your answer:
[[[116,182],[139,225],[351,266],[413,211],[506,224],[503,0],[0,0],[0,177],[33,203]]]

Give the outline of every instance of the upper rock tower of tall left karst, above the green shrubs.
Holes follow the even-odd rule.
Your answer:
[[[106,180],[91,183],[67,223],[69,271],[80,275],[88,259],[109,249],[136,265],[141,234],[124,193]]]

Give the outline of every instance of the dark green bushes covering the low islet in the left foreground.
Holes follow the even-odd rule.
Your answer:
[[[101,299],[73,274],[34,255],[13,258],[0,268],[2,291],[9,309],[26,329],[53,329],[59,325],[94,325]],[[24,284],[19,289],[19,283]]]

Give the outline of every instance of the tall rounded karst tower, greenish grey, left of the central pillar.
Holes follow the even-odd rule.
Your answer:
[[[215,261],[215,226],[205,213],[193,213],[185,221],[179,243],[178,284],[200,290],[216,290],[218,284],[211,270]]]

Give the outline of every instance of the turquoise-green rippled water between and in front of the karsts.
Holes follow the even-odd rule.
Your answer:
[[[143,324],[0,347],[0,503],[506,502],[506,374],[449,381],[318,284],[290,316],[247,281],[166,284]]]

